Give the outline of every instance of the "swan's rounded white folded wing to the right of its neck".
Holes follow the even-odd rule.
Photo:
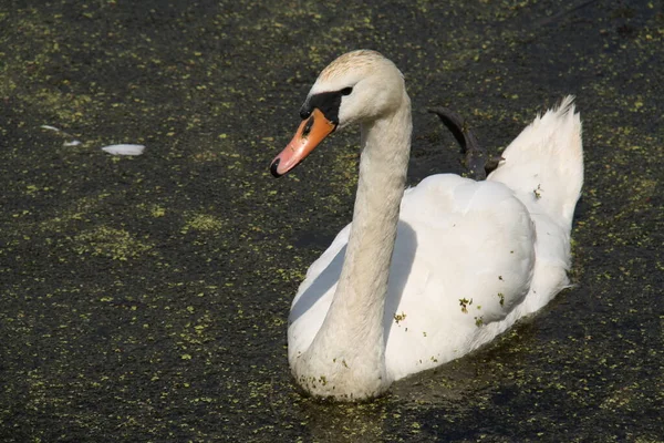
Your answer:
[[[528,210],[498,183],[432,176],[401,214],[385,307],[395,379],[460,357],[518,318],[536,243]]]

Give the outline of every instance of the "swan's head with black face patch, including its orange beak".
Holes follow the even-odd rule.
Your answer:
[[[293,140],[272,161],[276,177],[291,171],[334,130],[369,124],[394,113],[404,101],[400,70],[378,52],[360,50],[334,60],[319,75],[300,110]]]

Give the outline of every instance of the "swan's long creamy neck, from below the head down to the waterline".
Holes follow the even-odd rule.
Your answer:
[[[411,134],[411,101],[405,91],[394,114],[362,126],[360,178],[344,266],[328,316],[294,368],[295,377],[314,393],[371,396],[390,384],[383,317]]]

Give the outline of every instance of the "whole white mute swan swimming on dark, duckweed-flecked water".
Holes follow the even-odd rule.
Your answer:
[[[571,96],[526,127],[487,181],[440,174],[405,192],[411,100],[390,60],[341,55],[300,116],[274,176],[336,128],[362,134],[353,222],[311,265],[289,317],[289,363],[311,394],[378,395],[489,342],[568,286],[583,181]]]

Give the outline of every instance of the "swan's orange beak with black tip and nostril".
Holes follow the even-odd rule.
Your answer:
[[[272,161],[270,165],[272,175],[281,177],[298,166],[335,128],[334,123],[329,121],[320,110],[314,109],[309,119],[300,123],[293,140]]]

